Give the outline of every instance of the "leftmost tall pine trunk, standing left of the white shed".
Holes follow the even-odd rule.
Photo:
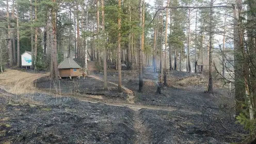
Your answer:
[[[8,25],[8,36],[7,36],[7,47],[8,47],[8,52],[9,52],[9,59],[10,59],[10,66],[12,67],[13,64],[13,59],[12,59],[12,47],[11,47],[11,26],[10,26],[10,17],[9,17],[9,3],[8,0],[6,1],[6,18],[7,18],[7,25]]]

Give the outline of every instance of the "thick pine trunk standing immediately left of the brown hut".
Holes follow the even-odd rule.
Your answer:
[[[53,0],[56,3],[56,0]],[[52,59],[51,59],[51,78],[58,78],[58,63],[57,63],[57,8],[53,7],[52,10],[52,27],[53,27],[53,47],[52,47]]]

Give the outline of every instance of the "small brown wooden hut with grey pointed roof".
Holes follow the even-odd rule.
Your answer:
[[[59,77],[71,77],[76,76],[79,78],[80,73],[79,70],[81,67],[71,58],[67,57],[65,58],[60,64],[59,64]]]

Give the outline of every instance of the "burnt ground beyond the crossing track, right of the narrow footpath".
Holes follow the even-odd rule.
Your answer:
[[[200,74],[172,71],[168,79],[168,87],[162,88],[162,94],[157,94],[158,76],[145,69],[143,74],[143,92],[138,92],[138,75],[133,71],[122,71],[122,85],[135,94],[135,103],[155,106],[173,106],[188,110],[201,111],[203,105],[218,107],[219,97],[230,97],[228,89],[214,89],[214,95],[205,93],[205,79]],[[94,73],[103,77],[102,73]],[[108,72],[108,81],[118,83],[118,73]]]

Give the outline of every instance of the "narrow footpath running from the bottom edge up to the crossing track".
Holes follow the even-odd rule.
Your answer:
[[[151,131],[143,124],[139,116],[140,111],[134,112],[134,131],[135,131],[135,144],[149,144],[152,143],[150,137],[152,136]]]

